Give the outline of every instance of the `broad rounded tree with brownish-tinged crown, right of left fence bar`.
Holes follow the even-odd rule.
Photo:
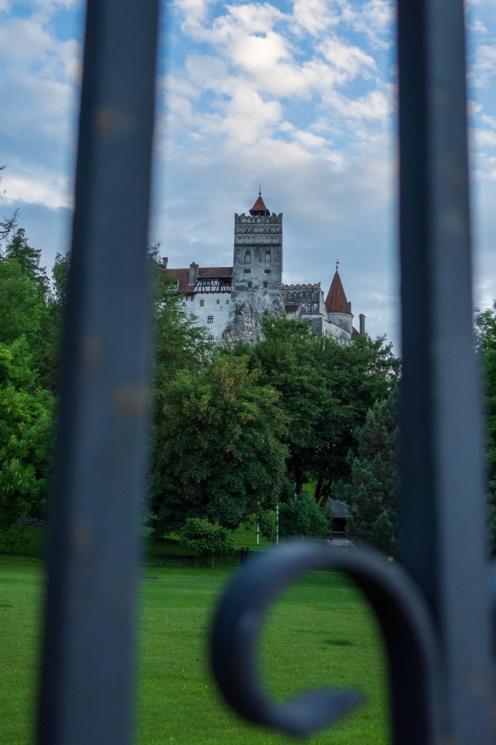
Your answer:
[[[181,370],[155,420],[151,509],[155,533],[201,517],[234,528],[287,494],[286,417],[277,392],[246,358],[214,357]]]

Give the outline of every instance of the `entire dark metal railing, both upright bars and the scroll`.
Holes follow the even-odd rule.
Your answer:
[[[39,743],[125,745],[149,358],[146,224],[155,0],[90,0],[57,476],[51,508]],[[462,0],[399,0],[402,565],[289,545],[221,600],[213,668],[251,720],[306,735],[359,693],[268,700],[254,664],[264,614],[309,568],[370,600],[390,668],[393,740],[489,745],[492,595],[479,375],[472,340]],[[470,520],[466,521],[466,514]]]

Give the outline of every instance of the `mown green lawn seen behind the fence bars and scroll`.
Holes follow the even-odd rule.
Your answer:
[[[250,545],[248,540],[244,545]],[[0,555],[0,743],[33,742],[42,561]],[[210,616],[233,569],[154,566],[142,580],[139,745],[283,745],[219,701],[206,663]],[[311,745],[388,741],[381,644],[367,606],[344,577],[307,574],[271,613],[260,665],[274,696],[319,684],[358,687],[367,705]]]

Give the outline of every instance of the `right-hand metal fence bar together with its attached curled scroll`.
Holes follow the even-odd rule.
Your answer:
[[[370,600],[389,652],[393,741],[401,745],[489,745],[495,738],[480,381],[473,348],[464,31],[463,0],[398,1],[401,545],[409,576],[361,550],[344,559],[330,549],[321,549],[320,558],[300,556],[302,570],[320,564],[346,571]],[[213,670],[239,713],[309,734],[355,699],[309,691],[299,701],[276,706],[260,688],[254,642],[277,583],[297,572],[297,549],[291,551],[248,565],[228,589],[213,628]],[[416,592],[410,593],[413,586]],[[422,633],[416,613],[423,618]],[[398,636],[401,624],[408,638]],[[422,670],[414,661],[406,663],[412,644]],[[395,669],[402,660],[403,671]],[[318,714],[322,706],[327,716]]]

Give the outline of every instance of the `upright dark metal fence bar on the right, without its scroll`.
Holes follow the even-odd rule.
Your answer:
[[[463,0],[399,0],[398,9],[402,552],[439,633],[445,735],[487,745],[492,678]]]

